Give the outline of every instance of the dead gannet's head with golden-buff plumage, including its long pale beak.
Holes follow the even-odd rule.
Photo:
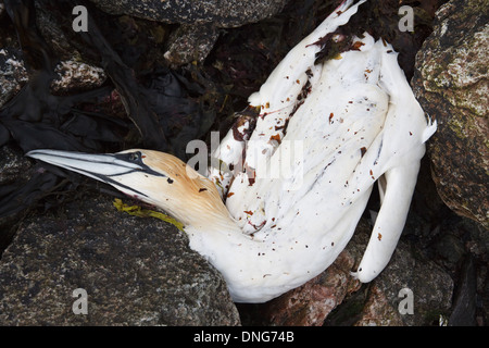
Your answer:
[[[112,185],[164,210],[184,225],[203,225],[213,217],[228,216],[214,184],[168,153],[142,149],[108,154],[34,150],[26,156]]]

